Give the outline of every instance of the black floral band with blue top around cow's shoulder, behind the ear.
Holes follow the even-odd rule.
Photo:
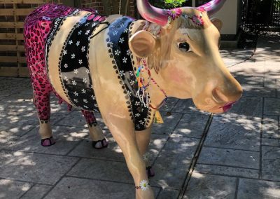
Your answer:
[[[109,53],[111,53],[113,68],[116,69],[116,74],[121,80],[120,84],[127,95],[127,108],[134,121],[135,130],[145,130],[151,121],[151,109],[146,105],[150,97],[148,93],[139,90],[135,76],[137,68],[134,67],[133,55],[128,46],[131,34],[130,27],[132,27],[133,21],[132,18],[122,17],[113,22],[109,27],[107,46]],[[145,95],[146,97],[144,97]],[[141,98],[144,99],[144,102]]]

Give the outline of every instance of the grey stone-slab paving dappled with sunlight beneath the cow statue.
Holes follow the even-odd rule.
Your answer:
[[[227,114],[169,99],[150,147],[157,198],[280,198],[279,42],[260,36],[250,60],[252,50],[222,50],[244,88]],[[134,198],[108,129],[109,148],[92,149],[80,112],[52,99],[57,143],[42,147],[29,79],[0,78],[0,198]]]

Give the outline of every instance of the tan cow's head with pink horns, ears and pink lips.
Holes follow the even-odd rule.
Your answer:
[[[133,53],[148,57],[149,67],[165,79],[169,95],[191,97],[198,109],[213,113],[228,111],[242,93],[219,53],[221,20],[209,19],[224,2],[162,10],[137,0],[139,13],[153,25],[130,39]],[[158,36],[151,34],[158,29]]]

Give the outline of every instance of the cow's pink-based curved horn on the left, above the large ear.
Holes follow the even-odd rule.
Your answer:
[[[167,11],[151,6],[148,0],[137,0],[137,9],[142,18],[144,18],[145,20],[161,26],[167,25]]]

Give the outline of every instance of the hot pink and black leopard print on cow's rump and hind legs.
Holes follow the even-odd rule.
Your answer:
[[[52,21],[55,18],[69,15],[75,8],[63,5],[45,4],[36,8],[25,19],[25,55],[27,67],[33,87],[34,105],[41,123],[47,123],[50,119],[50,92],[54,92],[62,103],[62,98],[52,89],[45,68],[45,41],[52,29]],[[80,9],[83,11],[96,12],[92,8]],[[66,103],[66,102],[65,102]],[[71,105],[68,104],[69,109]],[[96,125],[94,114],[90,111],[82,111],[88,124]]]

